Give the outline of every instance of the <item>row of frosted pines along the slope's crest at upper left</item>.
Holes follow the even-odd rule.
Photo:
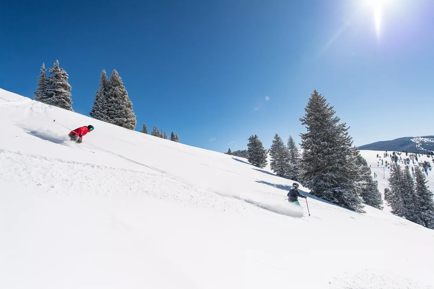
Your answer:
[[[63,68],[59,67],[58,60],[54,63],[53,68],[49,68],[48,71],[51,75],[49,77],[46,75],[46,68],[43,63],[38,76],[36,91],[33,92],[35,95],[34,100],[74,111],[70,92],[72,87],[68,83],[69,75]],[[107,78],[105,70],[102,70],[99,89],[95,92],[93,106],[89,115],[97,120],[135,130],[137,120],[133,112],[133,105],[116,69],[113,69],[110,78]],[[145,123],[140,132],[148,133]],[[157,132],[154,129],[151,135],[168,139],[167,133],[163,133],[162,130],[160,133],[158,128]],[[171,140],[179,143],[178,135],[172,132]]]

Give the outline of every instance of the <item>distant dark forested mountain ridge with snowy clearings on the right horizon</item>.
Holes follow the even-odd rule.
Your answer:
[[[408,153],[429,153],[434,151],[434,136],[407,136],[395,140],[384,140],[359,146],[358,149],[408,151]]]

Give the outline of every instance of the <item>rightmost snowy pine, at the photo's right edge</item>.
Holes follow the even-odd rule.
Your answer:
[[[414,177],[416,179],[415,191],[419,198],[419,213],[420,219],[425,227],[434,229],[434,202],[433,193],[428,190],[426,185],[427,180],[421,168],[414,169]]]

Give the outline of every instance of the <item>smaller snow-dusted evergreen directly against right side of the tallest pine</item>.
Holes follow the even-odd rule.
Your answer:
[[[354,147],[353,155],[359,176],[356,182],[356,190],[358,190],[358,193],[366,204],[382,210],[384,207],[381,193],[378,191],[378,182],[372,179],[372,172],[368,166],[368,162],[360,154],[358,147]]]

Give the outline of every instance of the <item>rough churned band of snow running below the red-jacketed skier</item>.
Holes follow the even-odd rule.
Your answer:
[[[186,185],[162,174],[95,166],[43,156],[26,156],[23,153],[10,153],[2,149],[0,162],[8,168],[6,172],[0,172],[1,178],[30,187],[37,185],[54,194],[90,192],[97,195],[147,195],[215,211],[238,212],[240,208],[245,207],[241,202],[237,202],[238,205],[233,202],[229,206],[225,197],[207,189]],[[24,162],[25,167],[22,166]],[[41,174],[41,171],[45,173]]]

